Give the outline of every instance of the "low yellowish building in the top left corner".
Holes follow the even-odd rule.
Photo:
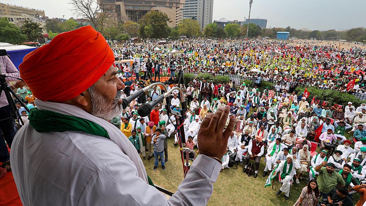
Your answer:
[[[0,2],[0,16],[22,16],[22,14],[28,14],[30,16],[45,16],[45,11]]]

